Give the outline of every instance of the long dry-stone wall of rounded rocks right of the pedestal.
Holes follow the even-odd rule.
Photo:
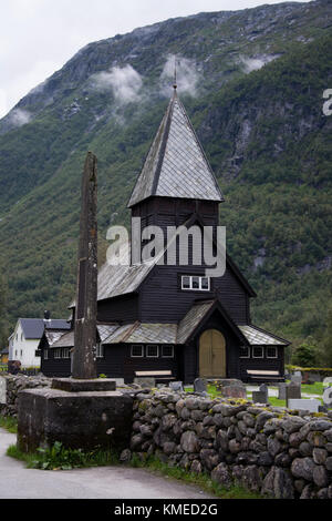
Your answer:
[[[165,389],[134,400],[131,451],[274,498],[332,499],[332,413]],[[128,451],[123,459],[128,458]]]

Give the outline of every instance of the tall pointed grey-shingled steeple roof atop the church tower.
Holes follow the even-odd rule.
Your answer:
[[[153,195],[224,201],[176,89],[134,186],[128,207]]]

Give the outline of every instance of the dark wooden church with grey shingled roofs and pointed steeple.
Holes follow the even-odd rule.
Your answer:
[[[132,192],[132,217],[141,217],[142,229],[197,225],[216,231],[222,202],[175,88]],[[282,380],[289,341],[251,324],[253,297],[228,255],[220,277],[207,277],[206,265],[193,258],[189,265],[105,263],[98,273],[97,374],[125,382],[137,376],[185,384],[197,377]],[[41,371],[70,376],[73,346],[73,328],[45,331]]]

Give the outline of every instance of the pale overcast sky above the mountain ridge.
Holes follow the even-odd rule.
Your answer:
[[[0,118],[86,43],[168,18],[263,3],[280,1],[0,0]]]

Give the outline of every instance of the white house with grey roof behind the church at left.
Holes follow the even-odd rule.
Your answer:
[[[45,329],[70,329],[64,319],[19,318],[12,334],[10,360],[19,360],[22,368],[40,367],[40,357],[35,356],[39,343]]]

